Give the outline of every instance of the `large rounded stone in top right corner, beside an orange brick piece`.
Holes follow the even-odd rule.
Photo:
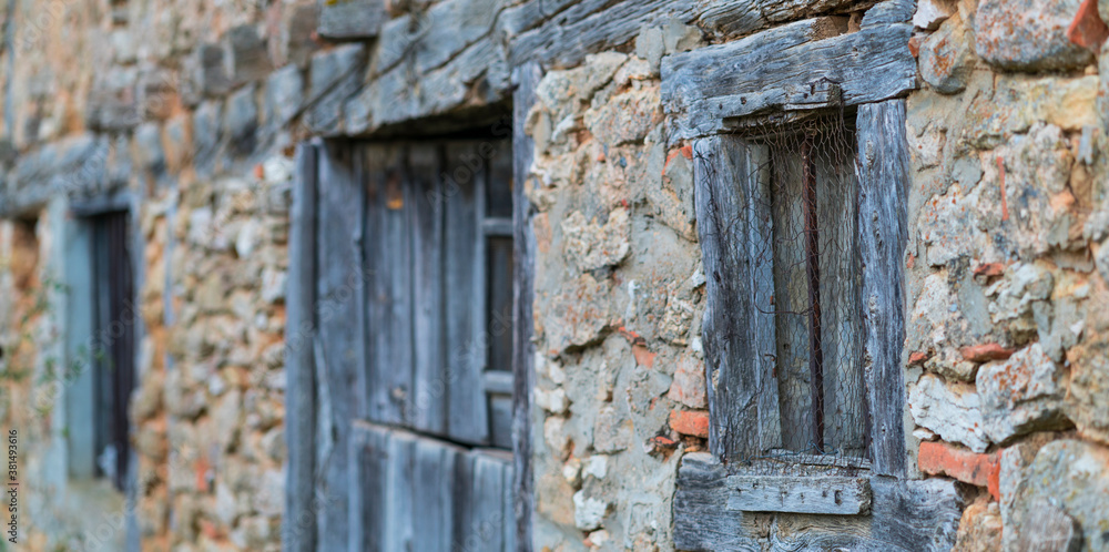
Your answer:
[[[975,16],[975,51],[1013,71],[1076,69],[1093,61],[1067,39],[1081,0],[985,0]]]

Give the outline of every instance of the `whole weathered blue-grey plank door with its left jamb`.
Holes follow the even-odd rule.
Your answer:
[[[288,549],[515,550],[510,143],[305,150]]]

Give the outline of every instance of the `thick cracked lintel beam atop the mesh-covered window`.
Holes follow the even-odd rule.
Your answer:
[[[663,106],[678,116],[675,135],[694,137],[744,116],[891,99],[916,86],[912,30],[891,23],[822,38],[838,31],[816,18],[669,55]]]

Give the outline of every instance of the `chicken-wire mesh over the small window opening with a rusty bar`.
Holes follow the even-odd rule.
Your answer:
[[[775,378],[763,385],[776,385],[781,421],[781,447],[749,464],[857,466],[840,461],[862,460],[868,439],[853,125],[837,113],[745,140],[755,185],[744,224],[765,236],[753,243],[752,274],[773,278],[754,308],[773,316],[774,339],[753,352],[773,359]]]

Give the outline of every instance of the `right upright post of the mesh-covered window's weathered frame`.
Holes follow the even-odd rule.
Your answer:
[[[904,477],[905,273],[908,241],[908,142],[905,102],[858,109],[859,249],[863,259],[864,358],[871,410],[871,459],[876,473]]]

